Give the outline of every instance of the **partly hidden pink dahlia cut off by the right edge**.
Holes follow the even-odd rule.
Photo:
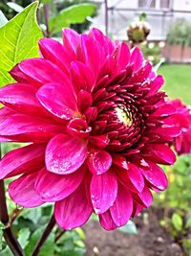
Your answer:
[[[174,123],[180,128],[180,135],[174,140],[175,150],[178,154],[191,153],[191,110],[181,103],[179,99],[169,101],[176,109]]]

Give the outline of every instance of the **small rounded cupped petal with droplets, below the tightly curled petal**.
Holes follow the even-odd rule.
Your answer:
[[[112,156],[107,151],[91,151],[87,163],[93,175],[101,175],[112,166]]]

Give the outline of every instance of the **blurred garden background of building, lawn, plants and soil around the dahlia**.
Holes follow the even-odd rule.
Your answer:
[[[0,0],[0,10],[11,19],[31,2]],[[58,40],[63,27],[79,33],[96,27],[130,47],[138,45],[163,75],[162,89],[168,96],[191,105],[191,0],[42,0],[37,19],[44,35]],[[18,146],[4,144],[3,153]],[[162,168],[168,175],[169,188],[155,194],[153,206],[135,220],[110,232],[100,227],[96,216],[82,229],[65,233],[54,229],[40,255],[49,251],[50,256],[190,256],[191,156],[178,156],[173,167]],[[14,229],[26,247],[26,255],[30,255],[50,219],[52,205],[29,211],[9,199],[9,209],[13,217],[18,217]],[[0,255],[9,253],[3,244]]]

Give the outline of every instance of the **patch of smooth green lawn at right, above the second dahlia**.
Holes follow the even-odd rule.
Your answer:
[[[191,65],[164,64],[158,73],[165,80],[162,89],[171,99],[180,98],[184,104],[191,105]]]

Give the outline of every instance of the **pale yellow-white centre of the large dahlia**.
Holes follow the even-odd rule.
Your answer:
[[[115,110],[116,110],[117,119],[119,122],[123,123],[127,127],[131,127],[133,125],[133,117],[129,109],[120,105],[120,106],[117,106]]]

